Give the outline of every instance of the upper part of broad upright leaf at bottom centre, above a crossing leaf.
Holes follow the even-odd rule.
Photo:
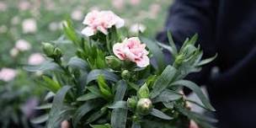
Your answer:
[[[125,92],[127,90],[127,85],[124,80],[119,81],[117,84],[116,92],[115,92],[115,99],[114,101],[119,101],[124,99]]]

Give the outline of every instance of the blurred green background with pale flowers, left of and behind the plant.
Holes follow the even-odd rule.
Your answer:
[[[0,127],[33,127],[35,106],[45,97],[24,65],[39,65],[41,42],[59,38],[61,22],[72,19],[82,29],[85,14],[112,10],[125,19],[131,35],[138,29],[154,38],[161,30],[170,0],[1,0],[0,1]],[[70,51],[70,50],[69,50]],[[31,77],[33,76],[33,77]],[[36,120],[34,120],[36,121]],[[39,127],[38,125],[34,127]]]

